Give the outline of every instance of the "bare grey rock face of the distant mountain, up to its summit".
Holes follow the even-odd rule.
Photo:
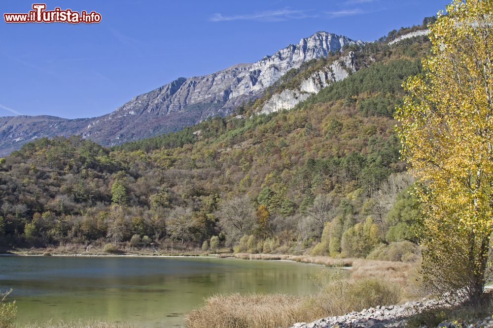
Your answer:
[[[220,112],[227,112],[243,101],[245,96],[261,93],[288,70],[298,68],[304,61],[325,57],[328,53],[352,43],[359,44],[361,41],[317,32],[301,39],[296,45],[282,48],[274,55],[266,56],[252,64],[237,64],[206,76],[180,78],[170,84],[173,87],[166,85],[142,94],[118,108],[110,116],[136,115],[142,110],[168,114],[197,103],[215,103],[219,105]],[[203,118],[210,113],[206,111],[205,114]]]

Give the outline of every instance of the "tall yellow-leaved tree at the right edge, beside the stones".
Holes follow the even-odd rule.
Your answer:
[[[483,299],[493,229],[493,0],[455,0],[430,27],[423,74],[397,108],[420,182],[423,274],[443,295]]]

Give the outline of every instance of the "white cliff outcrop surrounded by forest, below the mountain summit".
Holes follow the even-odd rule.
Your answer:
[[[298,89],[284,89],[280,93],[272,95],[265,102],[260,113],[268,114],[284,109],[292,109],[310,95],[318,93],[318,91],[329,86],[332,82],[345,79],[350,72],[355,71],[354,53],[350,52],[341,60],[336,60],[324,69],[310,75],[309,78],[301,82]]]

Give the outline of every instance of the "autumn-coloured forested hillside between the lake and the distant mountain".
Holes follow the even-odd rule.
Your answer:
[[[78,136],[26,144],[0,159],[0,244],[217,236],[214,247],[237,252],[412,260],[417,208],[392,115],[428,49],[424,36],[352,46],[232,116],[113,149]],[[357,72],[291,111],[256,114],[276,88],[349,51]]]

